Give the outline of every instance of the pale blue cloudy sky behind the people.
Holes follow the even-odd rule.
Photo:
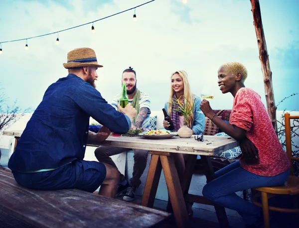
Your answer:
[[[135,7],[148,0],[1,0],[0,42],[27,38],[88,23]],[[260,0],[269,53],[275,103],[299,93],[299,0]],[[67,76],[67,52],[90,47],[98,63],[97,90],[110,103],[121,92],[129,66],[137,87],[151,97],[151,110],[161,110],[170,93],[170,75],[188,74],[191,92],[200,96],[213,87],[212,109],[231,109],[233,97],[223,95],[217,71],[229,61],[248,70],[245,86],[258,92],[266,105],[263,75],[250,0],[155,0],[94,23],[27,40],[2,43],[0,93],[12,105],[34,110],[47,87]],[[278,110],[299,111],[299,95]]]

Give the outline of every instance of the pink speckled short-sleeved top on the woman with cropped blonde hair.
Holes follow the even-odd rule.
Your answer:
[[[260,176],[275,176],[290,168],[290,161],[272,126],[261,96],[249,88],[241,88],[234,98],[229,122],[244,130],[259,151],[259,164],[241,167]]]

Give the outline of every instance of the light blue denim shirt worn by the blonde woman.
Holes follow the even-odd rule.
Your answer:
[[[200,110],[200,103],[201,103],[201,99],[200,97],[197,96],[193,96],[193,99],[196,98],[195,100],[195,104],[193,107],[193,121],[192,121],[192,127],[191,129],[194,131],[195,134],[202,134],[203,130],[204,130],[204,125],[205,125],[205,116],[202,113],[202,111]],[[194,101],[194,100],[193,100]],[[168,110],[169,107],[169,103],[166,102],[164,105],[164,109]],[[170,114],[168,114],[170,116]]]

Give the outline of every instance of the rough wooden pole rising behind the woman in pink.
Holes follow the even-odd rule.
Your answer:
[[[267,111],[272,121],[272,125],[277,132],[277,122],[276,122],[276,106],[274,101],[274,93],[272,86],[272,72],[270,70],[269,55],[267,51],[266,39],[264,34],[264,28],[262,23],[261,8],[259,0],[250,0],[251,11],[253,14],[254,27],[256,30],[258,47],[260,53],[260,60],[262,64],[262,72],[264,77],[264,87],[267,103]]]

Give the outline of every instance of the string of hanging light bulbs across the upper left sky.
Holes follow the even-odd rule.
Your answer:
[[[84,26],[84,25],[87,25],[87,24],[91,24],[91,23],[93,24],[94,22],[97,22],[97,21],[100,21],[100,20],[107,19],[107,18],[109,18],[109,17],[112,17],[112,16],[115,16],[115,15],[121,14],[121,13],[123,13],[123,12],[127,12],[127,11],[129,11],[129,10],[131,10],[131,9],[134,9],[133,20],[136,21],[136,19],[137,19],[137,18],[136,18],[136,13],[135,13],[135,12],[136,12],[136,8],[138,8],[138,7],[140,7],[140,6],[143,6],[143,5],[145,5],[145,4],[148,4],[148,3],[152,2],[152,1],[155,1],[155,0],[149,0],[149,1],[145,2],[145,3],[143,3],[143,4],[140,4],[140,5],[137,5],[137,6],[135,6],[135,7],[132,7],[132,8],[123,10],[123,11],[121,11],[121,12],[117,12],[117,13],[111,14],[111,15],[109,15],[109,16],[102,17],[102,18],[100,18],[100,19],[97,19],[97,20],[94,20],[94,21],[91,21],[91,22],[87,22],[87,23],[85,23],[85,24],[80,24],[80,25],[77,25],[77,26],[73,26],[73,27],[70,27],[70,28],[66,28],[66,29],[62,29],[62,30],[59,30],[59,31],[50,32],[50,33],[46,33],[46,34],[42,34],[42,35],[31,36],[31,37],[22,38],[22,39],[16,39],[16,40],[2,41],[2,42],[0,42],[0,43],[8,43],[8,42],[16,42],[16,41],[26,40],[25,49],[27,50],[27,49],[28,49],[28,44],[27,44],[27,40],[28,40],[28,39],[33,39],[33,38],[42,37],[42,36],[48,36],[48,35],[52,35],[52,34],[55,34],[55,33],[58,34],[59,32],[67,31],[67,30],[70,30],[70,29],[73,29],[73,28],[78,28],[78,27],[81,27],[81,26]],[[93,32],[95,31],[93,25],[92,25],[91,29],[92,29]],[[58,42],[59,42],[59,38],[57,37],[57,39],[56,39],[56,43],[58,43]],[[2,48],[1,48],[1,50],[0,50],[0,53],[1,53],[1,52],[2,52]]]

